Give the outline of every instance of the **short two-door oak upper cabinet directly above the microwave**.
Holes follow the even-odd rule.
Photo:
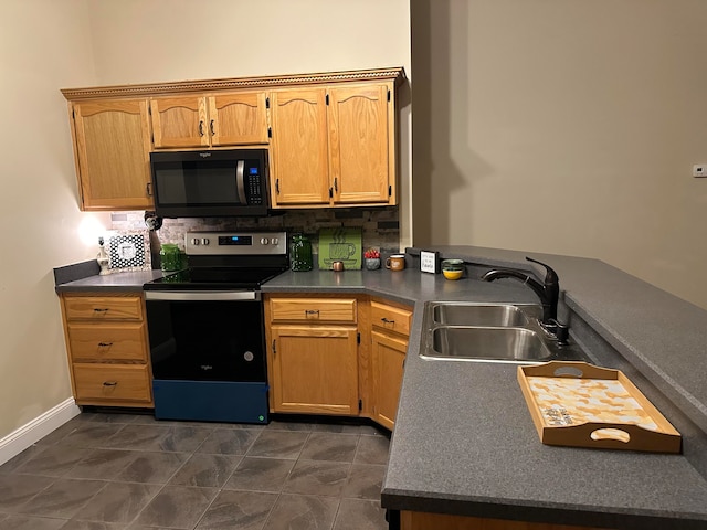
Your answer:
[[[156,149],[267,144],[264,92],[150,99]]]

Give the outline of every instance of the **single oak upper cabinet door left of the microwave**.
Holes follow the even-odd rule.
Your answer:
[[[147,99],[73,106],[82,210],[149,210],[150,135]]]

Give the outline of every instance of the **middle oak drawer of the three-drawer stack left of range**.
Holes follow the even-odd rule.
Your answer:
[[[147,362],[145,324],[70,324],[74,361]]]

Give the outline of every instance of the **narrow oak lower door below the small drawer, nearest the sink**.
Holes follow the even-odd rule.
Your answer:
[[[373,420],[392,431],[398,412],[403,363],[408,341],[403,338],[371,331],[373,365]]]

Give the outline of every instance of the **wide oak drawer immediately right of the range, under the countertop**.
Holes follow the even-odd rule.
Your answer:
[[[273,298],[274,322],[350,322],[356,324],[356,300],[352,298]]]

